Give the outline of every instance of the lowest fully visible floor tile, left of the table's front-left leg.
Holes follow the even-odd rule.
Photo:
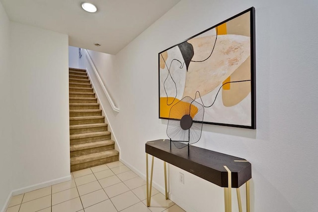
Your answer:
[[[131,191],[118,195],[116,197],[110,198],[110,200],[114,204],[117,211],[124,210],[140,202],[140,200],[136,197],[136,195],[134,195],[134,193],[132,193]]]

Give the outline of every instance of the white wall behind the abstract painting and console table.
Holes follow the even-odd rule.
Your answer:
[[[114,79],[107,80],[116,82],[111,95],[120,112],[112,112],[110,106],[105,112],[122,160],[144,174],[145,142],[167,138],[167,121],[158,119],[158,53],[250,6],[256,8],[257,129],[205,124],[197,145],[251,162],[251,211],[316,212],[316,0],[180,1],[111,59]],[[99,70],[103,75],[108,71]],[[223,189],[184,171],[181,185],[180,170],[169,166],[168,171],[170,197],[186,211],[224,210]],[[154,182],[163,188],[159,160]]]

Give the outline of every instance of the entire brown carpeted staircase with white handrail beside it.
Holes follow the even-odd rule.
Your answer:
[[[86,70],[69,69],[71,172],[118,161]]]

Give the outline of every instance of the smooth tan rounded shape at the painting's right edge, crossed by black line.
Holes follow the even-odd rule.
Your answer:
[[[250,57],[239,66],[231,75],[231,81],[250,80]],[[224,106],[239,104],[250,93],[251,81],[230,83],[230,89],[222,89],[222,101]]]

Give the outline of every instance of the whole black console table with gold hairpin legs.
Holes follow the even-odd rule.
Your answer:
[[[225,212],[232,212],[232,188],[236,188],[239,212],[242,212],[239,187],[246,184],[246,211],[250,212],[249,180],[252,177],[251,164],[245,159],[211,150],[190,146],[178,149],[174,145],[170,149],[170,140],[154,140],[146,143],[146,177],[147,206],[150,207],[154,157],[163,160],[165,199],[168,199],[166,163],[179,167],[202,179],[224,188]],[[151,177],[149,187],[148,154],[152,155]]]

